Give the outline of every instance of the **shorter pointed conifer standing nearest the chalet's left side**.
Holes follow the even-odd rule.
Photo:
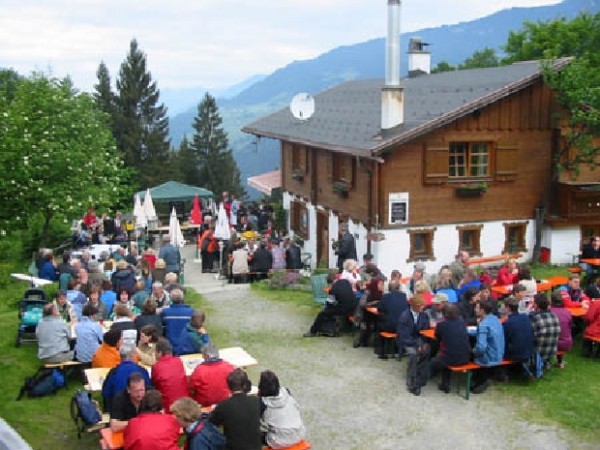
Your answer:
[[[211,190],[217,196],[223,191],[243,198],[246,192],[229,147],[227,133],[223,130],[223,120],[214,97],[208,92],[198,105],[198,114],[194,118],[195,130],[191,149],[196,155],[200,167],[199,184]]]

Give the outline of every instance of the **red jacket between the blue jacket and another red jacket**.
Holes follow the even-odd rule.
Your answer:
[[[177,356],[164,355],[152,366],[152,385],[162,394],[166,412],[175,400],[190,395],[185,369]]]

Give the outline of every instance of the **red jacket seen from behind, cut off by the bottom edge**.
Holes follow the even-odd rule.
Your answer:
[[[179,450],[179,422],[172,414],[142,413],[125,428],[125,450]]]

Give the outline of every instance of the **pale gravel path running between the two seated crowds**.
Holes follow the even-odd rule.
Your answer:
[[[189,248],[184,253],[192,256]],[[248,286],[215,281],[199,273],[197,263],[186,266],[186,284],[214,309],[209,331],[228,328],[230,343],[258,360],[248,370],[253,383],[261,370],[271,369],[292,391],[315,450],[593,448],[573,445],[559,427],[522,421],[510,399],[493,388],[465,401],[438,391],[434,381],[415,397],[406,392],[405,361],[379,360],[371,348],[353,349],[349,335],[302,338],[312,314],[260,298]],[[264,345],[265,335],[272,345]]]

